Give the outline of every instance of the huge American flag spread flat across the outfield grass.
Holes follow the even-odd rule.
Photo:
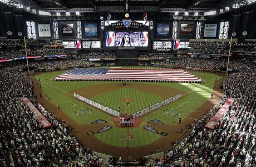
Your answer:
[[[123,69],[123,68],[87,68],[71,69],[58,75],[55,80],[145,80],[145,81],[186,81],[202,80],[185,70],[175,69]]]

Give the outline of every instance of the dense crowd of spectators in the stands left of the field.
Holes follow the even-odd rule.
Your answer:
[[[24,62],[0,65],[0,166],[102,166],[101,158],[78,143],[72,128],[38,103],[24,67]],[[50,129],[42,128],[22,97],[40,110]]]

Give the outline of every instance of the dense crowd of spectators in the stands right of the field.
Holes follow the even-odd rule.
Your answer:
[[[223,83],[224,95],[178,145],[157,158],[155,166],[253,166],[256,164],[256,65],[237,63],[237,72]],[[214,129],[206,129],[213,114],[234,98]]]

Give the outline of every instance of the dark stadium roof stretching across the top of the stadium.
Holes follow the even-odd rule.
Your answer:
[[[44,11],[210,11],[247,0],[13,0]]]

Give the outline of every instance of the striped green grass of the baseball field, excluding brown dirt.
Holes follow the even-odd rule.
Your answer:
[[[73,98],[73,94],[68,93],[75,91],[76,89],[82,89],[91,87],[93,85],[104,85],[104,84],[116,84],[116,82],[93,82],[93,81],[68,81],[68,82],[55,82],[53,78],[65,71],[42,73],[36,76],[36,79],[40,78],[43,92],[48,96],[49,100],[54,104],[60,104],[63,112],[69,117],[75,120],[78,124],[87,124],[92,126],[91,122],[96,119],[104,119],[107,122],[112,122],[114,116],[106,114],[105,112],[93,108],[90,105],[81,102],[80,100]],[[170,89],[180,90],[185,93],[184,97],[176,100],[175,102],[154,110],[149,114],[141,117],[142,122],[147,123],[149,120],[158,119],[164,124],[178,124],[179,117],[186,118],[188,115],[206,102],[210,98],[213,92],[213,86],[215,79],[219,76],[210,73],[203,72],[191,72],[192,74],[204,79],[206,82],[203,84],[193,83],[164,83],[164,82],[143,82],[145,85],[161,85]],[[129,83],[128,83],[129,84]],[[154,93],[145,92],[137,89],[117,89],[109,92],[99,93],[95,95],[92,100],[104,104],[109,108],[117,109],[118,106],[121,110],[125,110],[124,98],[132,99],[129,112],[136,112],[142,108],[146,108],[154,103],[161,102],[164,100],[159,95]],[[79,110],[87,109],[82,115],[76,115],[75,113]],[[180,115],[173,115],[168,110],[173,110]],[[88,112],[89,111],[89,112]],[[104,124],[102,124],[104,126]],[[141,124],[136,128],[129,128],[129,133],[132,133],[134,140],[129,141],[129,145],[132,147],[150,144],[161,137],[160,134],[150,133],[145,130],[144,124]],[[95,137],[100,139],[102,142],[115,146],[126,146],[127,140],[121,140],[121,138],[127,134],[127,128],[119,128],[115,125],[110,130],[107,130],[100,134],[95,134]]]

